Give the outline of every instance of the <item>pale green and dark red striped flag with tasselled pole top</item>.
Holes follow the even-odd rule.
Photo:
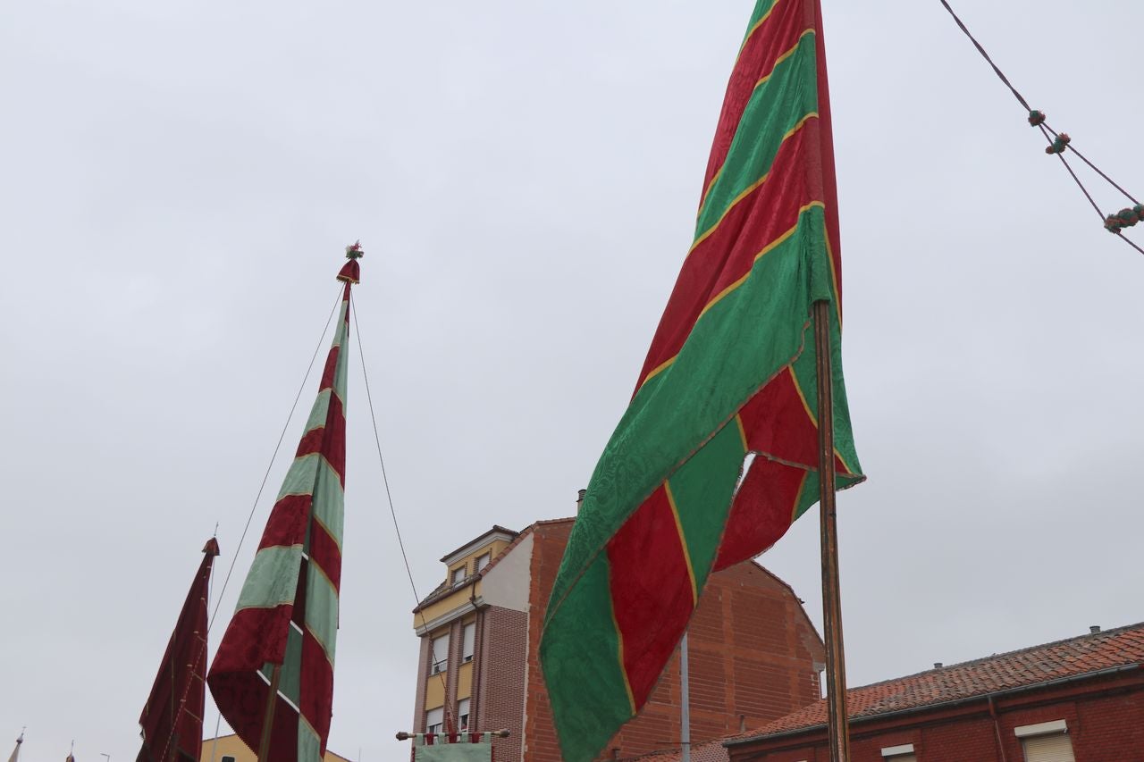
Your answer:
[[[350,261],[337,275],[345,283],[341,313],[318,398],[207,675],[222,716],[257,751],[273,669],[280,666],[272,762],[320,762],[333,714],[350,287],[359,279],[360,246],[345,254]]]

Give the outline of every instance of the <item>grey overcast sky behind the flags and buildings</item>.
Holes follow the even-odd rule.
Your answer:
[[[219,522],[221,582],[356,238],[420,592],[490,525],[570,515],[690,244],[753,5],[7,3],[0,743],[134,757],[199,549]],[[1137,5],[958,6],[1144,192]],[[850,683],[1144,619],[1144,257],[937,0],[824,7],[869,475],[840,501]],[[356,351],[350,378],[329,744],[394,760],[413,594]],[[820,622],[817,554],[808,516],[763,563]]]

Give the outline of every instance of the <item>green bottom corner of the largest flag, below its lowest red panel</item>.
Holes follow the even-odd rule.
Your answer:
[[[610,738],[631,717],[628,686],[620,668],[620,643],[612,611],[607,556],[603,553],[580,578],[564,605],[551,616],[540,643],[540,662],[564,759],[590,760],[595,741]],[[590,653],[590,658],[571,658]],[[590,680],[585,680],[585,673]],[[569,691],[579,685],[587,690]],[[563,691],[562,691],[563,689]],[[594,707],[583,712],[582,706]]]

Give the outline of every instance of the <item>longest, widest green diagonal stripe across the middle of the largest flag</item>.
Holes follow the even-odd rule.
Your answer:
[[[589,482],[553,603],[630,513],[801,350],[810,315],[808,243],[823,225],[821,208],[804,212],[795,232],[755,263],[746,283],[698,320],[658,383],[633,399]]]

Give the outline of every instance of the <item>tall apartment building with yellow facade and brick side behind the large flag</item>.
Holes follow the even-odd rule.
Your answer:
[[[572,518],[494,526],[442,558],[445,581],[413,611],[421,638],[414,728],[508,729],[498,762],[559,762],[538,661],[548,596]],[[694,743],[757,727],[820,696],[823,642],[799,597],[754,562],[713,574],[690,628]],[[606,759],[680,741],[678,653]]]

